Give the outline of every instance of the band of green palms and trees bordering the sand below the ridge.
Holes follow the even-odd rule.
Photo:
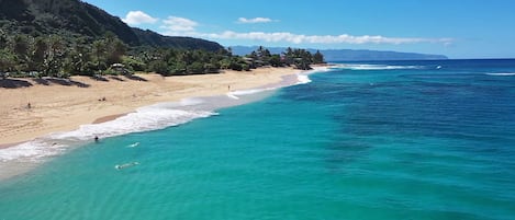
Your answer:
[[[188,50],[152,46],[130,47],[114,34],[94,40],[58,35],[13,36],[0,30],[0,73],[5,77],[57,77],[121,74],[134,71],[163,76],[217,73],[224,69],[250,70],[262,66],[310,69],[324,62],[323,55],[288,48],[270,54],[259,47],[246,56],[235,56],[231,48],[219,51]],[[120,68],[123,67],[123,68]],[[123,71],[121,71],[121,69]]]

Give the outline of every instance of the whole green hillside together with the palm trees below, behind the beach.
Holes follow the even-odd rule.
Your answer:
[[[78,0],[0,0],[0,77],[217,73],[262,66],[310,69],[317,51],[259,47],[247,56],[205,39],[163,36],[130,27]]]

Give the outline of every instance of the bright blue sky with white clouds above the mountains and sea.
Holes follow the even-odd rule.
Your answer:
[[[223,46],[515,58],[513,0],[85,0],[127,24]]]

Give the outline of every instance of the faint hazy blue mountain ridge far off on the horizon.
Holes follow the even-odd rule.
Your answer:
[[[258,46],[233,46],[235,55],[247,55],[256,50]],[[284,51],[286,47],[267,47],[272,54]],[[307,49],[316,53],[316,49]],[[380,51],[380,50],[355,50],[355,49],[320,49],[326,61],[371,61],[371,60],[437,60],[448,59],[444,55],[427,55],[417,53]]]

